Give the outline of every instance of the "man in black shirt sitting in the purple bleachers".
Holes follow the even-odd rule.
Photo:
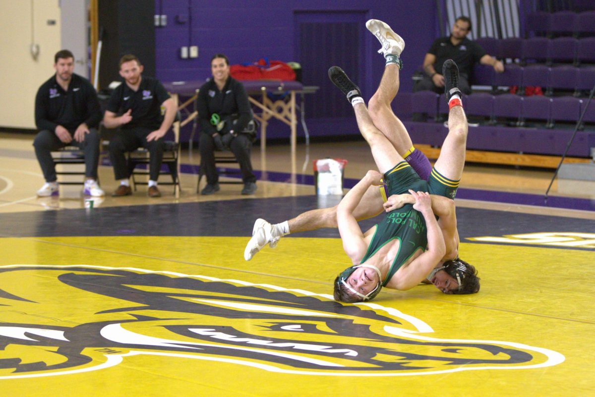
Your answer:
[[[442,70],[446,59],[452,59],[459,67],[459,89],[464,94],[471,93],[469,76],[477,62],[491,65],[497,73],[504,71],[504,65],[486,53],[478,43],[466,36],[471,31],[471,20],[468,17],[456,18],[450,36],[434,40],[424,58],[424,76],[414,86],[414,92],[431,90],[436,93],[444,91],[444,76],[437,71]]]

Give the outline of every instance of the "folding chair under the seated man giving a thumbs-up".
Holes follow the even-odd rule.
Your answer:
[[[180,197],[180,112],[176,112],[176,118],[172,124],[174,140],[166,140],[163,150],[162,164],[167,166],[167,171],[160,171],[159,175],[170,175],[171,182],[159,181],[159,185],[174,185],[174,195],[176,198]],[[168,133],[169,134],[169,133]],[[149,179],[148,166],[150,163],[149,151],[144,147],[128,152],[127,163],[129,166],[130,176],[136,191],[136,185],[147,185]],[[137,169],[137,165],[143,165],[143,168]],[[137,181],[136,176],[142,175],[146,177],[145,181]]]

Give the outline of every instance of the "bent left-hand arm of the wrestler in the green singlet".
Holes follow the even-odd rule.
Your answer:
[[[378,171],[368,171],[366,176],[361,179],[347,194],[337,206],[337,225],[339,226],[339,234],[343,241],[343,250],[354,264],[359,264],[359,261],[364,257],[368,249],[362,229],[358,225],[353,212],[361,201],[364,193],[368,190],[370,185],[378,182],[381,175]]]

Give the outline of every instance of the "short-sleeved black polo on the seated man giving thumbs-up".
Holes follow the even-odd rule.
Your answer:
[[[125,81],[120,84],[109,97],[107,110],[115,114],[124,114],[132,109],[130,122],[120,126],[123,130],[141,127],[155,131],[163,122],[161,104],[169,98],[170,94],[159,80],[142,76],[139,89],[136,91]]]

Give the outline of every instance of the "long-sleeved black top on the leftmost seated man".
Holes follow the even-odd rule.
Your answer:
[[[58,125],[68,131],[86,123],[97,128],[101,121],[101,108],[95,88],[84,77],[73,74],[64,91],[56,75],[43,83],[35,96],[35,124],[39,130],[55,131]]]

